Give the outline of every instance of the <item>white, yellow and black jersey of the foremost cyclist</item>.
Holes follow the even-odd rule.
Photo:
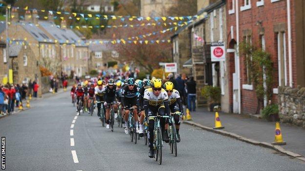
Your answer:
[[[155,96],[152,92],[152,88],[148,88],[144,92],[144,100],[149,100],[151,106],[158,106],[163,104],[165,100],[168,100],[168,95],[164,89],[161,89],[161,93]]]

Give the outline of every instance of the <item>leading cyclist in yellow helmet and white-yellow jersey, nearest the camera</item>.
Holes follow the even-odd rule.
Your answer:
[[[162,89],[162,80],[154,79],[152,81],[152,88],[146,89],[144,92],[144,110],[145,114],[148,116],[154,116],[157,113],[160,115],[169,115],[170,107],[168,101],[168,95],[164,89]],[[165,123],[166,119],[160,119],[160,125],[162,130],[162,139],[165,142],[169,142],[168,134],[165,132]],[[149,138],[149,147],[150,151],[148,156],[153,157],[153,133],[154,129],[154,119],[149,120],[148,126],[148,138]]]

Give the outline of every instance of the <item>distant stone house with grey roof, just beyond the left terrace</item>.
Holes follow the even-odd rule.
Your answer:
[[[104,41],[102,39],[90,39],[88,41],[91,42],[89,44],[90,57],[88,60],[88,67],[90,70],[106,70],[108,68],[108,62],[118,62],[119,53],[114,50],[111,46],[112,44],[100,44],[100,41]]]

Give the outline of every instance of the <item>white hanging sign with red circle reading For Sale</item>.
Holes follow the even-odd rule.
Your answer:
[[[225,47],[223,42],[211,43],[211,61],[225,61]]]

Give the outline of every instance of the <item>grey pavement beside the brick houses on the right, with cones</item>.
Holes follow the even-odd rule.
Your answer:
[[[202,126],[215,127],[215,112],[208,112],[205,108],[191,112],[192,122]],[[245,138],[259,142],[272,143],[275,135],[275,123],[264,119],[253,118],[245,114],[219,113],[223,131],[235,133]],[[284,150],[305,156],[305,129],[289,124],[280,124],[283,141],[287,144],[281,146]]]

